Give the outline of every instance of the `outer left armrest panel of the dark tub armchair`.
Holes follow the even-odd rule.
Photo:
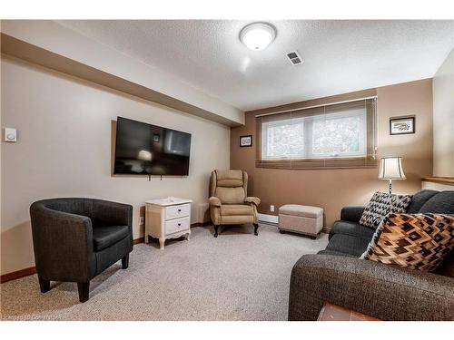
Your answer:
[[[93,277],[91,219],[34,205],[30,208],[30,216],[40,278],[84,282]]]

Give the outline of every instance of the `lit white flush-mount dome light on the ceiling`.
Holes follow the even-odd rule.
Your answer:
[[[271,24],[248,24],[240,32],[240,40],[252,51],[262,51],[276,37],[276,29]]]

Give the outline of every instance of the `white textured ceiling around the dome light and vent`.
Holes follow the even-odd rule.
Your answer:
[[[239,41],[245,21],[59,23],[244,111],[429,78],[454,45],[454,21],[271,21],[261,52]]]

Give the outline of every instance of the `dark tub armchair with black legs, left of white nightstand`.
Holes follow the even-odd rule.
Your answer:
[[[41,292],[50,281],[76,282],[79,300],[90,280],[133,250],[133,207],[102,199],[44,199],[30,207],[36,272]]]

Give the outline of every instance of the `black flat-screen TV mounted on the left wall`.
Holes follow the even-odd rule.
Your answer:
[[[117,117],[114,174],[189,174],[191,133]]]

